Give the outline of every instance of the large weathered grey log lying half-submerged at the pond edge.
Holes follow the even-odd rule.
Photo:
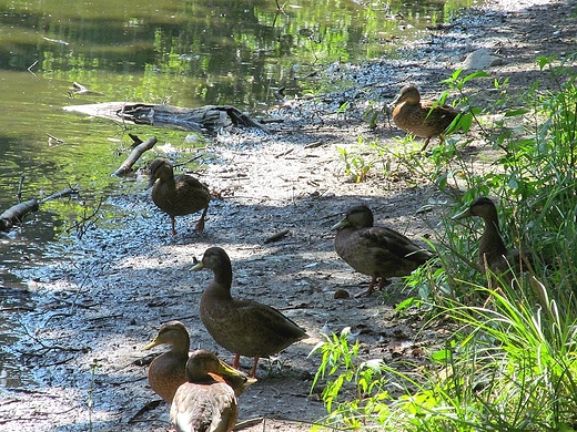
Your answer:
[[[200,109],[185,109],[162,104],[107,102],[90,105],[70,105],[64,106],[64,110],[120,122],[176,127],[184,131],[215,132],[220,127],[229,126],[232,123],[267,132],[265,126],[231,105],[206,105]]]

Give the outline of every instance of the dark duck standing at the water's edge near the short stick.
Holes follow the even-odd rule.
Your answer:
[[[152,187],[152,200],[156,207],[170,216],[173,236],[176,235],[175,216],[200,210],[203,212],[196,223],[196,230],[203,232],[211,200],[206,186],[189,174],[174,176],[171,163],[164,158],[156,158],[150,164],[150,187]]]

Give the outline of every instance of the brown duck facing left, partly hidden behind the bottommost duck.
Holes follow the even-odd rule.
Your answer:
[[[178,320],[165,322],[161,326],[158,335],[142,350],[150,350],[160,344],[170,344],[172,348],[158,356],[149,367],[149,384],[152,390],[160,395],[166,403],[172,403],[174,394],[181,384],[186,382],[186,362],[189,360],[190,335],[186,327]],[[222,360],[223,368],[230,368]],[[256,380],[249,378],[244,372],[237,371],[235,374],[226,377],[214,377],[216,380],[224,380],[234,391],[235,395],[241,395]]]

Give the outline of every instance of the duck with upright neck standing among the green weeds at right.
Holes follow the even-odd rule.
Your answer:
[[[485,223],[477,254],[480,272],[485,275],[489,270],[492,276],[500,278],[502,282],[510,286],[513,281],[512,265],[515,266],[518,261],[515,258],[509,259],[510,254],[500,235],[495,203],[486,196],[477,197],[452,219],[459,220],[472,216],[480,217]]]

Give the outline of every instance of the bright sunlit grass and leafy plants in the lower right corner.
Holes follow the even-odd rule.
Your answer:
[[[524,290],[477,287],[490,307],[455,302],[438,311],[458,330],[429,356],[421,377],[382,359],[363,360],[350,329],[325,337],[313,388],[322,392],[327,425],[383,431],[525,431],[577,428],[576,310],[561,313],[537,279],[535,308]],[[567,312],[567,311],[566,311]],[[435,318],[437,318],[435,317]],[[407,369],[407,368],[405,368]],[[387,387],[402,389],[394,399]],[[574,429],[571,429],[574,428]]]

